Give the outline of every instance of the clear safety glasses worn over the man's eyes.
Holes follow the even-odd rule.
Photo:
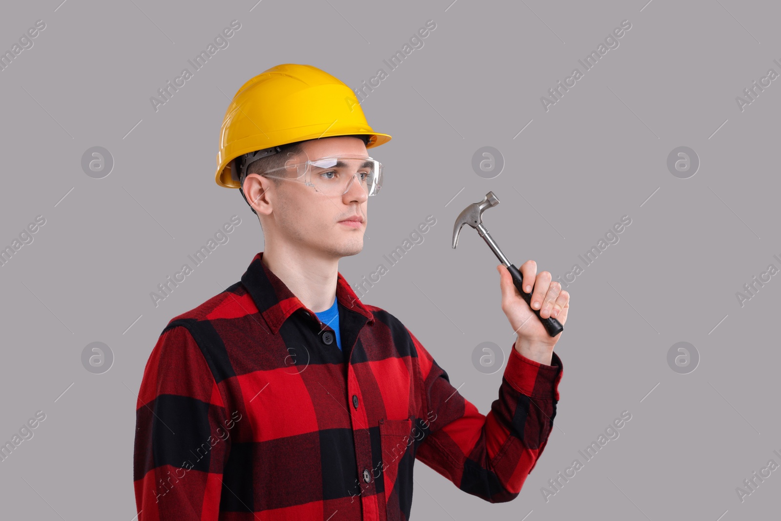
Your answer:
[[[352,183],[357,183],[366,194],[376,195],[383,184],[383,165],[372,158],[357,155],[341,155],[310,159],[304,162],[288,162],[262,175],[282,171],[268,177],[298,181],[313,187],[325,195],[344,195]]]

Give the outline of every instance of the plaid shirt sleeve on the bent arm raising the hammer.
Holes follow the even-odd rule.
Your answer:
[[[418,353],[428,408],[419,418],[429,426],[415,458],[467,494],[491,503],[515,499],[551,434],[561,359],[554,352],[547,366],[526,358],[512,345],[498,398],[483,416],[409,334]]]

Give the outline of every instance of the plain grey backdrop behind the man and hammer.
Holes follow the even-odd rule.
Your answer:
[[[477,371],[473,348],[492,341],[506,361],[514,334],[487,245],[465,229],[451,248],[458,212],[494,191],[501,205],[484,222],[498,244],[516,266],[534,259],[554,277],[583,267],[578,255],[622,216],[632,223],[567,288],[558,416],[519,498],[490,505],[419,464],[413,518],[778,516],[781,471],[743,502],[736,494],[769,459],[781,464],[779,276],[744,306],[736,298],[781,267],[781,80],[744,112],[735,101],[770,68],[781,73],[775,2],[55,0],[3,11],[4,51],[46,23],[0,72],[0,244],[46,219],[0,268],[0,439],[46,414],[0,462],[3,517],[135,515],[135,393],[148,355],[169,319],[239,280],[263,249],[241,195],[214,182],[237,88],[286,62],[358,87],[388,72],[383,59],[426,20],[437,27],[423,48],[362,103],[393,140],[371,151],[386,183],[369,199],[363,252],[340,271],[356,284],[427,215],[437,224],[364,302],[398,316],[485,414],[502,371]],[[234,19],[229,47],[155,112],[149,98]],[[622,20],[632,28],[619,47],[546,112],[540,97],[583,70],[577,60]],[[100,180],[80,166],[94,146],[115,163]],[[483,146],[503,155],[494,179],[472,169]],[[685,180],[666,166],[679,146],[701,162]],[[155,308],[150,292],[234,214],[230,241]],[[106,373],[82,366],[95,341],[112,349]],[[679,341],[699,352],[692,373],[668,366]],[[540,488],[625,410],[619,438],[546,502]]]

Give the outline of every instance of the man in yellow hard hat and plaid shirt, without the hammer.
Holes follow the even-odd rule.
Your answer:
[[[518,496],[556,415],[561,334],[547,336],[497,266],[518,337],[483,416],[398,318],[358,299],[338,262],[363,248],[383,180],[367,149],[390,139],[312,66],[273,67],[234,96],[216,180],[241,189],[265,250],[171,319],[149,356],[140,521],[408,519],[415,459],[485,501]],[[565,323],[569,294],[533,261],[520,270],[540,316]]]

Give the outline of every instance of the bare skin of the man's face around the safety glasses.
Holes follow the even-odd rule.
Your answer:
[[[289,162],[342,155],[369,157],[366,145],[357,137],[323,137],[305,141],[301,148],[303,152]],[[337,259],[356,255],[363,249],[369,196],[357,179],[342,195],[321,194],[303,183],[287,181],[282,181],[275,191],[271,217],[281,241]],[[357,225],[341,222],[352,216],[359,216],[362,222]]]

